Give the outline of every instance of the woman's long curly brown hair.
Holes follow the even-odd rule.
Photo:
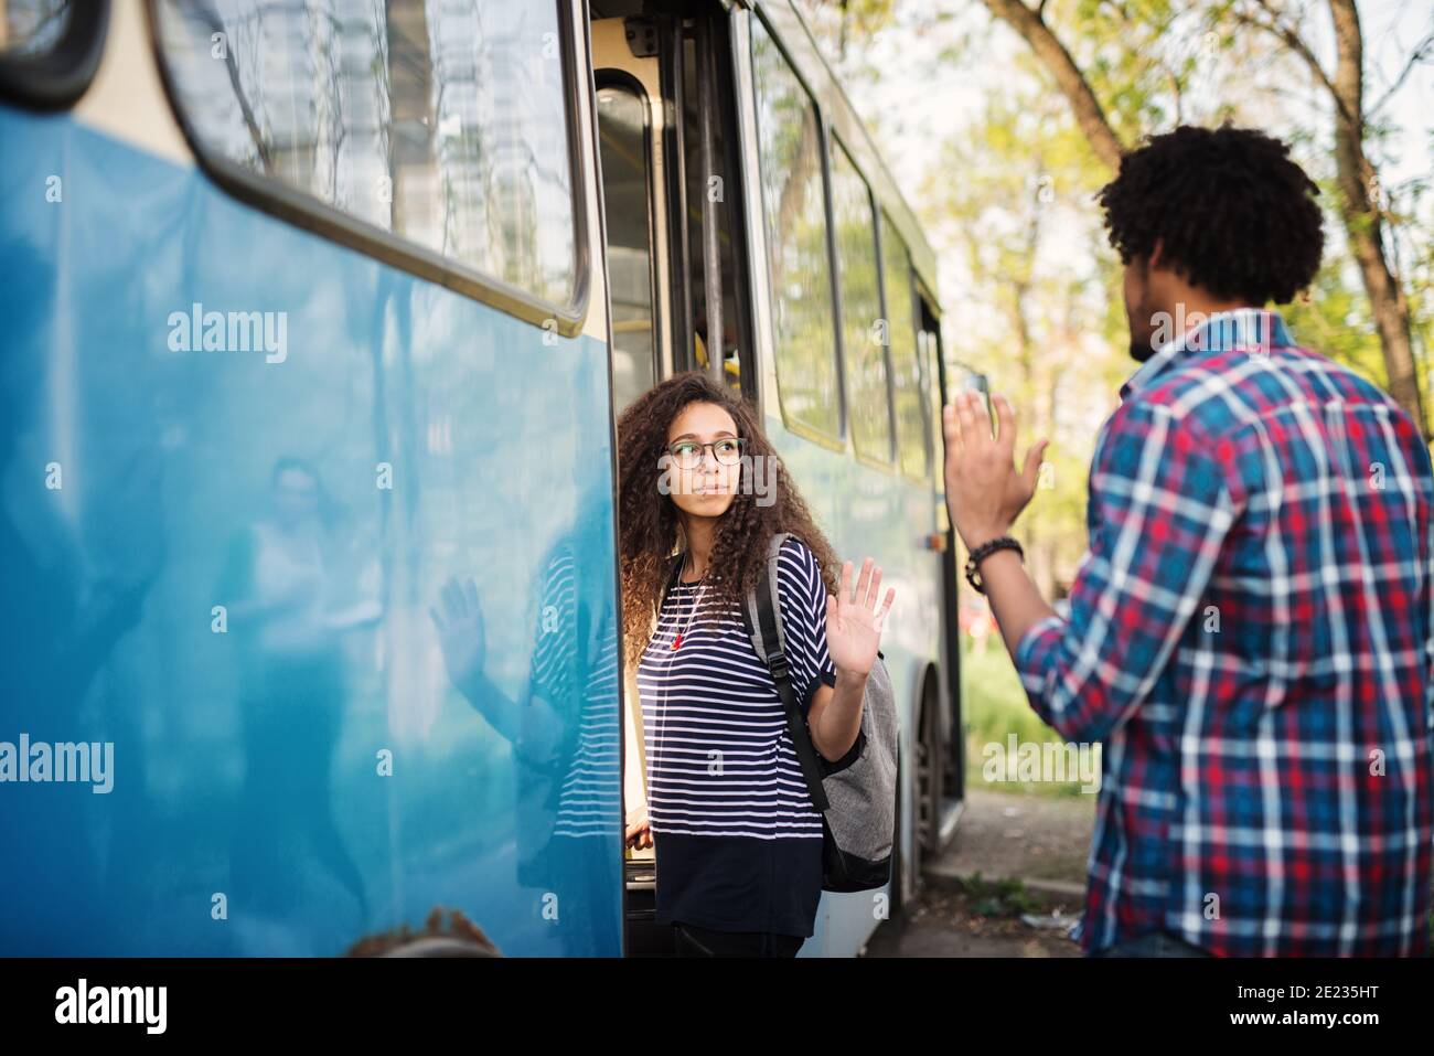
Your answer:
[[[652,616],[667,587],[670,558],[685,548],[681,518],[670,495],[661,494],[660,459],[667,430],[690,403],[714,403],[737,423],[743,446],[741,481],[731,505],[713,532],[710,583],[718,611],[740,603],[766,567],[767,545],[777,532],[802,539],[816,557],[822,580],[835,595],[840,565],[817,529],[786,466],[761,432],[757,416],[740,396],[690,370],[642,393],[618,418],[618,552],[622,564],[622,638],[627,663],[637,663],[652,633]],[[750,459],[747,456],[751,456]],[[750,475],[756,459],[774,468],[773,502],[757,502]],[[770,463],[767,459],[771,459]],[[706,608],[706,607],[704,607]],[[711,611],[711,610],[708,610]]]

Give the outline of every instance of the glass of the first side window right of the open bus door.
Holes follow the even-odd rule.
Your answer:
[[[816,105],[756,19],[751,65],[782,410],[789,425],[840,436],[842,393]]]

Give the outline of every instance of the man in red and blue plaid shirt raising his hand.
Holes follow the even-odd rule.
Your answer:
[[[1010,538],[1014,463],[964,396],[946,496],[1031,706],[1103,742],[1096,956],[1430,947],[1434,475],[1421,429],[1266,308],[1309,286],[1318,189],[1255,129],[1177,128],[1101,191],[1141,366],[1096,440],[1068,618]],[[979,577],[979,578],[977,578]]]

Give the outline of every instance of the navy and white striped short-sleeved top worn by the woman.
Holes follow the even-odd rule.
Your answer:
[[[777,581],[792,686],[806,710],[820,683],[836,684],[836,670],[826,585],[800,539],[783,544]],[[810,935],[822,818],[741,610],[708,588],[693,618],[700,590],[674,584],[638,664],[657,920]]]

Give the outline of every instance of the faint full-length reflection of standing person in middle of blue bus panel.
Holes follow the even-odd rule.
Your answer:
[[[268,517],[237,532],[225,555],[218,594],[238,654],[244,753],[229,852],[241,913],[301,905],[307,849],[369,917],[330,788],[347,699],[343,636],[380,617],[376,600],[353,598],[360,577],[346,521],[313,465],[281,458]]]

